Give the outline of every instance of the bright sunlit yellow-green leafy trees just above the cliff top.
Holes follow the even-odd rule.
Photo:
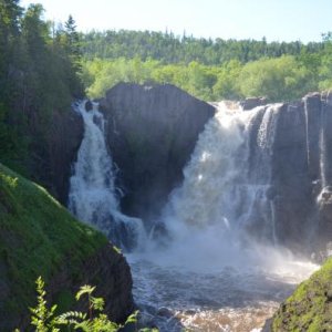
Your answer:
[[[222,65],[164,64],[139,58],[127,60],[95,59],[84,62],[83,80],[87,95],[100,97],[118,82],[170,83],[205,101],[239,100],[266,96],[273,101],[292,101],[310,91],[332,87],[332,48],[320,54],[262,58]]]

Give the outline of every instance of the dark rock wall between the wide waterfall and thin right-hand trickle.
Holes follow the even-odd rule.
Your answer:
[[[274,133],[271,181],[278,195],[272,199],[278,239],[289,248],[307,242],[311,181],[303,104],[282,105]],[[297,249],[297,248],[294,248]]]

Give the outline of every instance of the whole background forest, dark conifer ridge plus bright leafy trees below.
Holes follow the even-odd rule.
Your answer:
[[[170,83],[206,101],[291,101],[332,87],[331,33],[308,44],[124,30],[93,31],[81,40],[83,81],[91,97],[118,82]]]

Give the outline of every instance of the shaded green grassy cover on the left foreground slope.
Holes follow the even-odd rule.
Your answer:
[[[45,189],[0,164],[0,317],[8,322],[34,303],[34,280],[80,267],[107,239],[79,222]]]

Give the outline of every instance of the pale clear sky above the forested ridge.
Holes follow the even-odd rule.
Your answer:
[[[77,30],[172,31],[196,38],[321,41],[332,31],[332,0],[21,0],[42,3],[45,19]]]

